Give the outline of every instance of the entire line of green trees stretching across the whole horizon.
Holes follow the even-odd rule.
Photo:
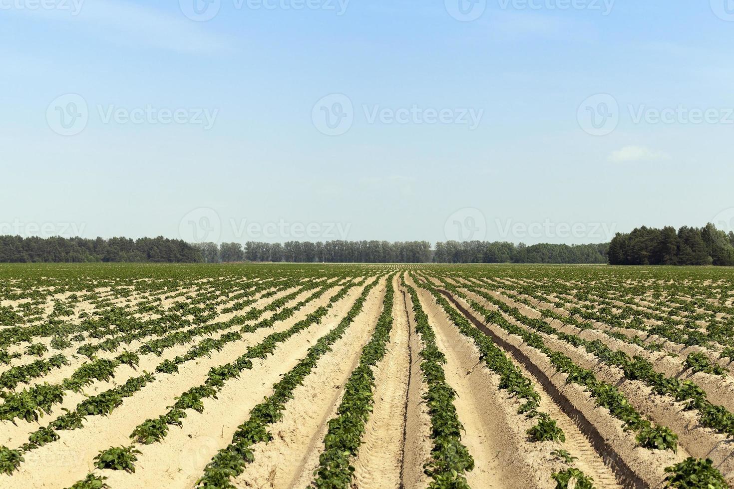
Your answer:
[[[611,243],[589,245],[446,241],[288,241],[185,243],[158,238],[84,239],[0,236],[0,262],[326,262],[326,263],[606,263],[734,265],[734,232],[640,227]]]

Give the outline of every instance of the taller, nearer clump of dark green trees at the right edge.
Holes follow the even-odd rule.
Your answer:
[[[734,265],[734,232],[713,224],[655,229],[639,227],[617,233],[609,243],[611,265]]]

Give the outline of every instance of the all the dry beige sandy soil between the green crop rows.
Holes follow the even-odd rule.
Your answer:
[[[321,282],[310,287],[315,279]],[[611,287],[610,280],[600,278],[589,284]],[[150,281],[154,283],[153,279]],[[426,288],[426,284],[430,287]],[[62,322],[83,329],[87,324],[84,318],[101,317],[104,311],[112,309],[124,309],[140,325],[169,320],[182,310],[185,312],[181,321],[185,326],[144,337],[128,337],[130,331],[118,331],[113,325],[105,334],[77,339],[71,346],[59,349],[52,348],[53,337],[39,333],[32,342],[44,345],[46,351],[35,356],[26,351],[30,342],[7,345],[5,350],[16,355],[6,364],[0,364],[0,375],[10,375],[5,372],[12,369],[29,368],[34,361],[48,361],[59,353],[68,363],[18,386],[3,387],[0,392],[4,396],[17,396],[23,389],[43,388],[46,383],[60,386],[73,375],[79,375],[90,362],[115,361],[123,351],[141,353],[136,366],[117,365],[114,378],[92,378],[79,391],[66,389],[62,400],[55,402],[50,412],[37,420],[0,422],[0,445],[6,447],[5,451],[23,452],[23,460],[17,466],[0,474],[0,488],[68,488],[87,474],[103,478],[103,482],[113,489],[196,487],[213,457],[220,450],[228,449],[241,425],[250,419],[252,408],[274,394],[275,385],[310,354],[319,339],[346,320],[364,292],[363,305],[349,321],[344,334],[319,356],[283,404],[281,416],[266,427],[272,441],[253,444],[252,460],[244,465],[241,473],[229,479],[238,488],[308,487],[319,469],[324,438],[329,435],[331,422],[338,415],[347,383],[363,358],[363,349],[376,337],[388,289],[394,291],[392,323],[385,340],[385,353],[371,367],[369,416],[363,425],[360,444],[349,458],[353,470],[352,488],[426,488],[435,482],[424,468],[438,449],[435,433],[440,422],[432,418],[425,400],[430,389],[429,379],[424,374],[426,342],[418,331],[416,309],[428,317],[435,345],[445,359],[441,364],[445,382],[456,394],[452,403],[463,427],[460,443],[474,462],[472,470],[458,477],[465,478],[470,487],[553,489],[556,488],[553,474],[573,467],[592,479],[596,488],[663,488],[665,468],[689,456],[711,458],[727,483],[733,484],[732,439],[725,433],[702,427],[694,411],[684,410],[682,404],[672,398],[653,394],[641,380],[627,380],[621,369],[604,364],[581,347],[570,345],[553,334],[539,334],[546,347],[589,369],[598,380],[617,386],[645,419],[669,427],[678,436],[677,452],[645,449],[637,443],[635,433],[625,431],[619,419],[597,405],[588,391],[568,383],[567,375],[553,367],[548,355],[531,348],[500,324],[488,322],[476,307],[498,312],[506,323],[531,331],[518,317],[506,314],[487,296],[479,295],[477,290],[481,290],[489,298],[517,309],[524,317],[546,320],[559,332],[578,334],[586,341],[599,340],[630,357],[647,359],[657,372],[690,380],[700,386],[711,402],[734,409],[734,369],[729,362],[719,359],[718,353],[724,346],[688,348],[663,339],[661,348],[645,348],[660,339],[647,334],[645,329],[661,323],[655,315],[686,321],[688,313],[680,305],[685,297],[676,296],[665,306],[659,296],[652,294],[627,301],[622,293],[602,296],[593,288],[584,298],[578,298],[573,291],[584,284],[570,280],[562,284],[564,288],[556,293],[551,282],[537,278],[476,279],[437,273],[430,268],[390,265],[355,267],[341,275],[324,274],[290,282],[277,274],[241,276],[229,282],[192,278],[182,281],[180,287],[160,290],[135,282],[126,287],[90,282],[88,290],[78,291],[57,292],[56,287],[39,287],[40,298],[38,293],[19,298],[21,289],[18,287],[22,282],[12,282],[15,287],[9,289],[12,299],[0,295],[0,305],[27,317],[24,327],[37,327],[50,318],[59,317]],[[639,282],[614,282],[615,287],[618,284],[623,289],[639,285]],[[708,287],[713,286],[722,285],[710,281]],[[247,291],[253,287],[256,292],[248,295]],[[411,289],[415,290],[417,303],[413,301]],[[317,291],[320,292],[314,295]],[[478,344],[462,332],[434,294],[445,298],[451,311],[489,337],[517,367],[519,375],[529,380],[537,392],[537,410],[550,416],[564,433],[564,441],[531,440],[528,430],[534,427],[537,419],[519,413],[524,401],[506,389],[501,375],[487,365]],[[245,299],[247,305],[241,306]],[[205,312],[186,309],[191,304],[207,306],[210,315],[198,321],[199,315]],[[732,306],[730,300],[712,298],[697,304],[695,310],[700,314],[711,312],[716,321],[725,323],[734,317],[734,312],[730,315],[728,310]],[[710,304],[716,312],[705,309],[705,304]],[[68,306],[68,312],[54,313],[54,308],[60,306]],[[581,307],[599,312],[599,315],[589,320],[579,316],[578,309],[572,311]],[[291,313],[281,317],[283,311],[289,312],[291,308]],[[321,320],[289,332],[308,315],[324,308],[327,312]],[[619,315],[625,308],[645,312],[647,320],[641,328],[612,326],[611,320],[605,320],[611,315]],[[561,318],[573,317],[590,327],[580,330],[559,319],[548,319],[548,312]],[[706,331],[705,324],[693,326],[695,324],[691,322],[691,328]],[[201,326],[214,329],[199,331]],[[5,328],[10,326],[4,325],[0,331]],[[144,350],[147,342],[166,339],[175,331],[180,331],[179,334],[191,332],[192,337],[167,345],[159,354]],[[238,331],[241,331],[240,337],[225,341],[230,338],[228,334]],[[280,334],[287,336],[281,338]],[[252,359],[252,368],[228,378],[217,389],[216,397],[203,397],[200,409],[186,409],[181,426],[170,425],[161,440],[150,444],[131,437],[139,424],[166,415],[183,393],[206,383],[212,368],[232,364],[271,337],[278,338],[275,348],[261,358]],[[92,359],[77,353],[82,344],[103,345],[108,339],[122,339],[123,342],[116,349],[98,350]],[[211,340],[223,344],[206,355],[183,361],[182,357],[193,347]],[[690,372],[684,360],[688,353],[697,351],[720,364],[725,372],[719,375]],[[163,361],[178,361],[178,371],[156,372]],[[83,427],[56,430],[58,439],[42,446],[24,446],[29,441],[29,433],[51,426],[89,397],[118,389],[143,372],[153,374],[154,380],[124,397],[109,413],[91,413],[84,419]],[[134,471],[96,466],[95,457],[100,452],[117,446],[139,451]],[[563,460],[559,451],[567,452],[573,459]],[[574,484],[572,480],[568,487],[573,488]]]

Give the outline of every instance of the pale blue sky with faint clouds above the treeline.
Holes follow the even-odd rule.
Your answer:
[[[0,234],[734,224],[730,0],[192,1],[0,0]]]

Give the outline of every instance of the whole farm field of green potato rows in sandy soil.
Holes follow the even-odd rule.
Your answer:
[[[734,272],[0,265],[0,488],[727,488]]]

